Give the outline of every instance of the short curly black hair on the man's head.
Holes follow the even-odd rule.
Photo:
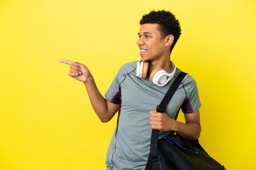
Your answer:
[[[175,15],[169,11],[151,11],[142,16],[139,24],[158,24],[157,30],[161,33],[161,40],[168,35],[173,35],[174,39],[171,52],[181,35],[180,22],[176,20]]]

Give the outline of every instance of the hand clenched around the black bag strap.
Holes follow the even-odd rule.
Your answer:
[[[176,120],[169,118],[166,113],[159,113],[156,110],[150,111],[150,127],[159,131],[174,131]]]

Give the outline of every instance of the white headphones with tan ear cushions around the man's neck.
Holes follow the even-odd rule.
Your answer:
[[[173,71],[171,73],[166,73],[163,68],[156,68],[155,70],[153,70],[149,77],[150,81],[160,87],[166,85],[166,83],[168,83],[168,81],[170,81],[175,76],[176,65],[172,61],[171,66],[173,68]],[[147,78],[148,62],[143,62],[141,60],[137,62],[136,76],[144,79]]]

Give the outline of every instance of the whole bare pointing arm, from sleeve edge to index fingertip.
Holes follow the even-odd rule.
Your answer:
[[[109,102],[100,94],[90,70],[84,64],[78,62],[63,59],[58,60],[58,62],[69,64],[70,72],[68,75],[84,83],[92,107],[101,122],[110,121],[117,113],[119,105]]]

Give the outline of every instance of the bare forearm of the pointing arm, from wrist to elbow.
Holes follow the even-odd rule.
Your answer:
[[[92,104],[92,108],[101,120],[101,122],[108,122],[111,118],[108,113],[108,105],[106,99],[99,92],[94,78],[90,76],[86,82],[85,87]]]

